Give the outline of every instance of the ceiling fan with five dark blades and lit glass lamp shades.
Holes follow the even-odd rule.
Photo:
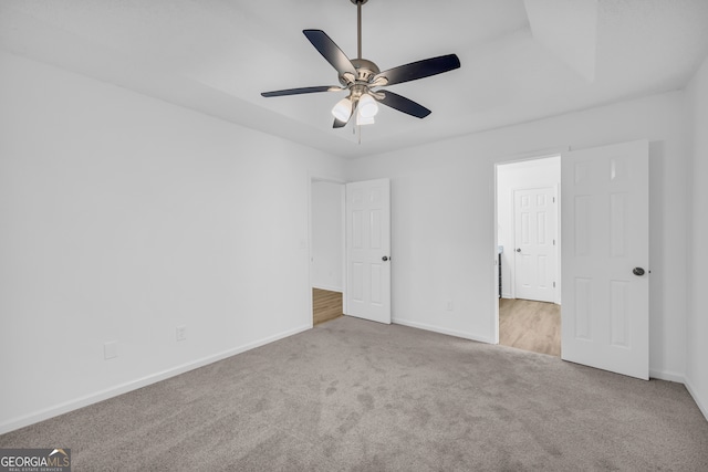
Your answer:
[[[377,103],[395,108],[399,112],[425,118],[430,111],[425,106],[395,94],[381,90],[387,85],[416,81],[441,74],[460,66],[460,60],[455,54],[440,55],[412,62],[381,72],[372,61],[362,57],[362,6],[368,0],[351,0],[356,4],[357,14],[357,57],[350,60],[344,52],[322,30],[303,30],[304,35],[322,56],[336,70],[341,86],[322,85],[313,87],[287,88],[282,91],[263,92],[264,97],[300,95],[317,92],[348,91],[348,96],[342,98],[332,108],[334,128],[342,128],[356,115],[356,125],[374,123],[378,112]]]

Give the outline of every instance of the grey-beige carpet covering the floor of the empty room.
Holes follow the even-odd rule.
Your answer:
[[[340,317],[0,437],[74,471],[706,471],[708,421],[643,381]]]

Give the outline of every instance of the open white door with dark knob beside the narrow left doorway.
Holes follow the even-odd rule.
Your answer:
[[[346,185],[346,314],[391,324],[391,183]]]

